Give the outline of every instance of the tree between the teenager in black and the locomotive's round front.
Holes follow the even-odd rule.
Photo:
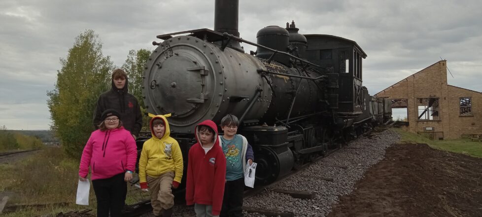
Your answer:
[[[146,112],[142,97],[142,76],[144,76],[145,65],[150,55],[151,51],[147,49],[130,50],[126,62],[122,65],[129,77],[129,91],[138,99],[142,113]],[[149,131],[149,117],[147,115],[143,116],[142,123],[144,125],[142,130]]]

